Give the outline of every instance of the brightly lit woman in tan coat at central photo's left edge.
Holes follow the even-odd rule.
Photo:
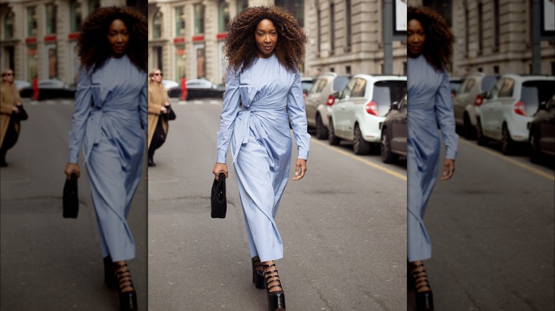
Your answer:
[[[156,166],[154,151],[162,146],[168,134],[168,120],[162,114],[168,113],[169,101],[162,76],[158,68],[149,73],[149,166]]]

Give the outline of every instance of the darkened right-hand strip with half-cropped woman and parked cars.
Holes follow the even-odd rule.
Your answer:
[[[408,1],[408,310],[555,306],[553,10]]]

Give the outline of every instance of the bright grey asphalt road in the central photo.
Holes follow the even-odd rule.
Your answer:
[[[267,310],[231,167],[227,217],[210,218],[221,100],[173,106],[148,176],[149,310]],[[385,165],[313,138],[307,165],[276,219],[287,310],[406,310],[406,161]]]

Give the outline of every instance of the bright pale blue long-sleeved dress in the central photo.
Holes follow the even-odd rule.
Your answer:
[[[297,158],[306,160],[310,135],[299,72],[287,71],[275,55],[258,58],[242,73],[229,72],[216,162],[226,163],[231,141],[250,255],[259,256],[260,261],[283,257],[282,239],[274,219],[291,162],[287,111],[297,143]]]

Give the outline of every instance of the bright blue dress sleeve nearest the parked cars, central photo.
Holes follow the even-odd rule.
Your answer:
[[[307,132],[307,114],[305,112],[305,99],[302,95],[302,84],[300,74],[297,71],[295,80],[287,95],[287,110],[289,119],[297,143],[297,158],[308,159],[308,149],[310,148],[310,134]]]

